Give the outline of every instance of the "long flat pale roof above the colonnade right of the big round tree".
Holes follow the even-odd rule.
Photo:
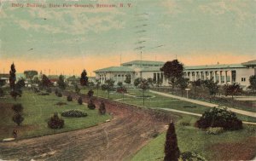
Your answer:
[[[205,66],[184,66],[184,70],[203,70],[203,69],[225,69],[225,68],[245,68],[241,64],[219,64]]]

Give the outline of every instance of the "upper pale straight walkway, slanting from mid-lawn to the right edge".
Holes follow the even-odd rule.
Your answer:
[[[163,95],[163,96],[166,96],[166,97],[175,98],[175,99],[182,100],[182,101],[188,101],[188,102],[195,103],[195,104],[202,105],[202,106],[209,106],[209,107],[217,106],[218,107],[217,104],[212,104],[212,103],[208,103],[208,102],[205,102],[205,101],[197,101],[197,100],[193,100],[193,99],[180,97],[180,96],[177,96],[177,95],[171,95],[171,94],[166,94],[166,93],[162,93],[162,92],[157,92],[157,91],[154,91],[154,90],[149,90],[149,91],[151,93],[154,93],[154,94],[157,94],[157,95]],[[244,110],[239,110],[239,109],[230,108],[230,107],[228,107],[228,109],[231,112],[236,112],[236,113],[239,113],[239,114],[242,114],[242,115],[246,115],[246,116],[249,116],[249,117],[256,118],[256,112],[247,112],[247,111],[244,111]]]

